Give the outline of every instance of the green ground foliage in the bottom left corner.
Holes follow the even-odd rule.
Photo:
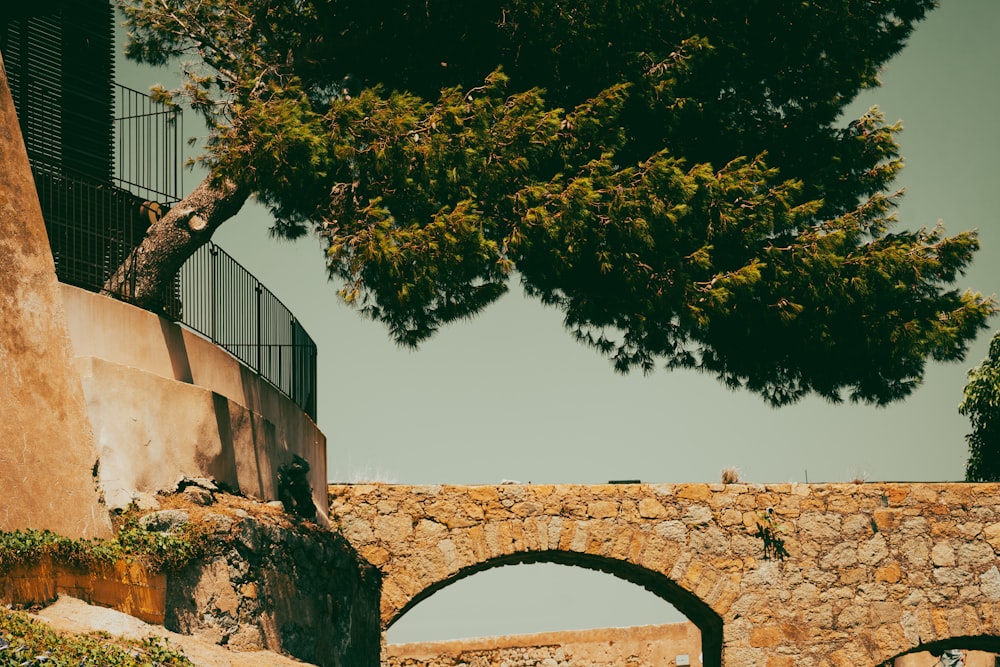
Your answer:
[[[61,635],[26,614],[0,611],[0,666],[193,667],[162,640],[112,639],[105,633]]]

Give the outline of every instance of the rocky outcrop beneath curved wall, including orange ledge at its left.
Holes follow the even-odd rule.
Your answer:
[[[379,664],[378,572],[346,540],[280,503],[225,494],[209,480],[179,487],[143,497],[152,511],[138,524],[168,534],[175,556],[193,555],[183,567],[165,558],[154,569],[124,551],[114,563],[89,565],[46,554],[0,572],[0,602],[34,607],[70,595],[236,651],[321,667]]]

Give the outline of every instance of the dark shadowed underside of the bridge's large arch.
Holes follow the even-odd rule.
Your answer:
[[[721,667],[722,618],[708,604],[663,573],[625,560],[576,551],[524,551],[497,556],[461,568],[451,576],[439,579],[414,594],[392,617],[386,619],[385,629],[391,627],[417,604],[456,581],[495,567],[531,563],[554,563],[581,567],[604,572],[618,579],[642,586],[663,601],[673,605],[698,627],[701,632],[702,664],[706,667]]]

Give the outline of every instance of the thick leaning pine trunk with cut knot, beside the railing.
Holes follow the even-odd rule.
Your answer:
[[[249,195],[234,182],[214,181],[209,175],[152,224],[101,293],[147,310],[162,310],[184,262],[239,212]]]

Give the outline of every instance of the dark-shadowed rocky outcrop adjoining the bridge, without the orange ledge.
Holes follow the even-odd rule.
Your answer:
[[[188,501],[190,502],[190,501]],[[164,625],[239,651],[323,667],[376,667],[378,573],[339,535],[256,503],[188,504],[210,555],[167,573]],[[178,520],[177,509],[160,510]]]

